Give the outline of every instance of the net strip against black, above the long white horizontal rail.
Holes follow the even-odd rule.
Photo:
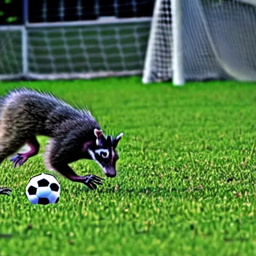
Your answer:
[[[151,17],[153,4],[154,0],[30,0],[29,22]]]

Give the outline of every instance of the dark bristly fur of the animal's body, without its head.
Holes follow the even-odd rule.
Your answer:
[[[48,169],[73,181],[84,181],[67,165],[80,158],[91,159],[83,144],[96,146],[97,121],[87,109],[78,110],[55,96],[32,89],[15,89],[0,99],[0,162],[26,142],[36,154],[36,135],[50,137],[44,162]],[[82,179],[83,178],[83,179]]]

